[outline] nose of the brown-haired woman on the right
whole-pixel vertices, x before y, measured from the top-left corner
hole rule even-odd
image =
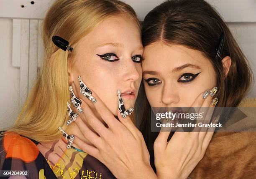
[[[167,107],[177,106],[179,103],[179,93],[175,86],[171,83],[164,84],[164,88],[162,89],[161,102],[164,103]]]

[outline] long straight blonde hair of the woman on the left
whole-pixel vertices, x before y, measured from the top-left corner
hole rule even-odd
[[[106,18],[122,14],[134,20],[140,30],[133,8],[119,0],[56,0],[42,23],[44,57],[37,81],[18,119],[4,130],[38,142],[59,140],[62,135],[58,127],[68,128],[68,57],[72,58],[74,53],[59,49],[51,38],[58,35],[72,46]]]

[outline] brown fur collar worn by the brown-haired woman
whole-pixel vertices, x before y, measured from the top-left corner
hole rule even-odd
[[[256,98],[246,98],[238,105],[238,107],[249,106],[256,107]],[[244,113],[250,115],[250,111]],[[250,129],[254,129],[256,117],[249,116],[249,118],[251,119],[248,122],[253,122],[251,123],[253,127]],[[241,125],[234,127],[239,126],[244,127]],[[256,178],[256,132],[254,131],[256,130],[215,133],[205,156],[188,179]]]

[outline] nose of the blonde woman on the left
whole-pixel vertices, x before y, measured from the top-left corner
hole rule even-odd
[[[140,63],[133,62],[131,58],[125,61],[122,71],[125,81],[137,81],[142,76]]]

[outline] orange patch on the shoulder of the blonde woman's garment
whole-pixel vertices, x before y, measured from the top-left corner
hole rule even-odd
[[[5,153],[5,159],[20,159],[24,162],[36,160],[39,154],[39,150],[33,141],[10,131],[3,134],[0,148]]]

